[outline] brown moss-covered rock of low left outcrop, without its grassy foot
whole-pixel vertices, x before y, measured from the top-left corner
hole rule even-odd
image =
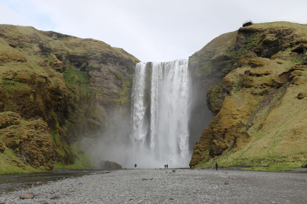
[[[10,119],[10,123],[6,123],[6,127],[2,126],[0,129],[0,138],[4,143],[4,145],[0,144],[0,149],[3,150],[1,152],[4,152],[6,146],[14,150],[16,156],[24,164],[51,171],[55,157],[47,123],[42,120],[26,122],[14,112],[0,113],[0,118]],[[18,122],[16,123],[16,121]],[[18,164],[18,167],[24,167],[19,163],[15,161],[14,164]]]

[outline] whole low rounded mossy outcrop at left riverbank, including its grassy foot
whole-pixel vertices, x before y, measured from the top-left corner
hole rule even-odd
[[[49,128],[44,121],[24,121],[17,113],[1,112],[0,140],[1,173],[53,169],[55,156]]]

